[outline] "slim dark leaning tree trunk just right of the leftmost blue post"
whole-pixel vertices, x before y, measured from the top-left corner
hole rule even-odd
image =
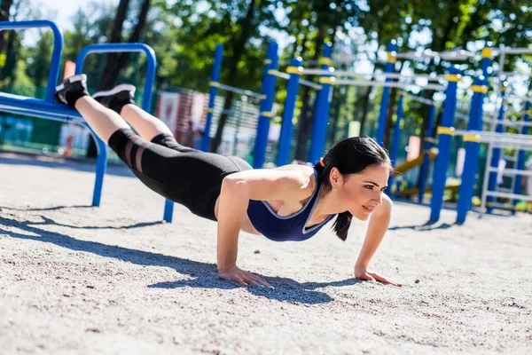
[[[251,0],[249,8],[247,9],[246,17],[241,22],[241,31],[239,38],[234,42],[233,45],[233,55],[230,61],[229,75],[227,77],[227,82],[229,85],[235,85],[235,79],[237,78],[237,70],[239,66],[239,61],[244,54],[244,49],[246,47],[246,42],[249,39],[249,34],[251,33],[251,26],[254,19],[254,9],[255,9],[256,0]],[[223,105],[224,109],[230,109],[232,105],[233,93],[227,91],[225,94],[225,104]],[[226,108],[227,107],[227,108]],[[220,116],[220,121],[218,122],[218,128],[216,129],[215,138],[211,141],[209,150],[211,152],[216,152],[220,143],[222,143],[222,134],[223,127],[229,118],[228,114],[222,114]],[[208,132],[206,132],[208,134]]]

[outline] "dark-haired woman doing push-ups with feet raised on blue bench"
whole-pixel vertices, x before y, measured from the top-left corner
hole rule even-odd
[[[179,145],[163,122],[135,106],[134,93],[133,86],[122,84],[91,98],[85,75],[67,78],[56,88],[56,98],[77,109],[145,185],[218,222],[220,278],[270,287],[268,281],[237,266],[240,231],[273,241],[304,241],[336,217],[332,227],[345,241],[351,217],[372,216],[355,276],[401,286],[368,270],[392,209],[384,194],[391,163],[374,140],[344,139],[314,168],[286,165],[254,170],[237,157]]]

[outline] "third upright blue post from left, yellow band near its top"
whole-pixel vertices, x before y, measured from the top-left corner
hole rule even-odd
[[[279,138],[277,165],[286,165],[290,160],[290,148],[292,146],[293,134],[293,112],[295,110],[295,100],[299,90],[299,80],[301,75],[301,57],[290,60],[290,67],[286,68],[286,73],[290,75],[286,87],[285,111],[283,113],[283,123],[281,126],[281,136]]]

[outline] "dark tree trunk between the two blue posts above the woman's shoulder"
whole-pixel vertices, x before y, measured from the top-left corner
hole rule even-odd
[[[320,55],[322,54],[322,47],[324,46],[325,41],[325,30],[323,26],[319,26],[317,28],[317,36],[316,36],[316,49],[314,51],[314,56],[312,57],[313,62],[317,62]],[[301,95],[301,114],[298,122],[298,130],[297,130],[297,143],[295,146],[295,156],[294,158],[297,160],[301,160],[303,162],[307,162],[308,160],[308,147],[309,147],[309,141],[311,139],[312,134],[312,118],[314,116],[311,107],[310,107],[310,88],[308,86],[304,86],[302,88],[303,92]],[[314,102],[314,106],[316,106],[316,100]]]

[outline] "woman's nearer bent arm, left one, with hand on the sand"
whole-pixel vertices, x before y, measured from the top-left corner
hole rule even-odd
[[[221,278],[243,285],[270,286],[237,266],[239,232],[249,200],[303,200],[312,193],[311,185],[309,177],[293,170],[246,170],[223,179],[217,231],[217,267]]]

